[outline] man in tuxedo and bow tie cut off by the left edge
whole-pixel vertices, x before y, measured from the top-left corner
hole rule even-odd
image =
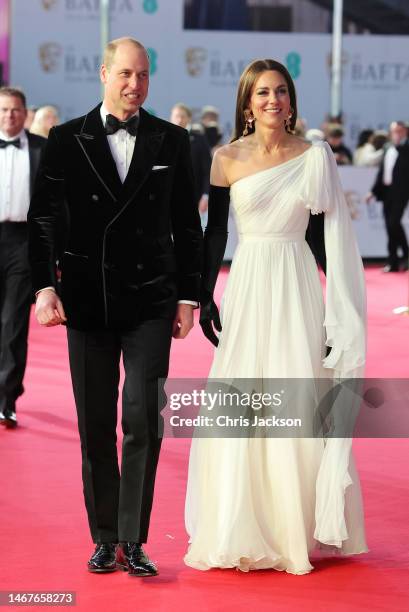
[[[24,130],[22,91],[0,87],[0,423],[17,426],[32,302],[27,211],[45,139]]]

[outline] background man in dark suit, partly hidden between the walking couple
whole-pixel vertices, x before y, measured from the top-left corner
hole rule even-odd
[[[192,111],[186,104],[181,102],[175,104],[170,113],[170,121],[189,132],[195,197],[199,212],[205,212],[209,199],[210,166],[212,164],[207,138],[203,132],[199,131],[202,130],[201,126],[197,126],[197,129],[192,126]]]

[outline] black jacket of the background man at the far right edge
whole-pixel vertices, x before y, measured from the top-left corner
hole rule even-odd
[[[406,140],[397,149],[398,157],[392,171],[392,184],[386,188],[383,183],[384,156],[371,189],[380,202],[384,202],[386,197],[397,204],[409,200],[409,141]]]

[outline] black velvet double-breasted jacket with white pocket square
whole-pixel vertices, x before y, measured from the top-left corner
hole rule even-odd
[[[100,105],[53,128],[28,221],[35,291],[56,286],[56,253],[63,253],[69,327],[131,330],[173,318],[180,299],[198,300],[202,230],[189,136],[143,109],[124,183]]]

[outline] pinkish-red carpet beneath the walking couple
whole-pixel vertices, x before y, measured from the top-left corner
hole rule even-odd
[[[407,378],[409,317],[392,314],[392,308],[407,303],[407,275],[368,269],[367,282],[367,375]],[[40,329],[32,321],[29,346],[20,427],[0,430],[0,591],[75,591],[76,609],[92,612],[409,609],[408,440],[355,440],[370,552],[318,557],[315,570],[305,576],[187,568],[182,557],[189,441],[166,440],[147,546],[160,576],[89,574],[85,564],[92,543],[83,508],[65,330]],[[170,375],[206,376],[211,353],[196,326],[187,340],[174,342]]]

